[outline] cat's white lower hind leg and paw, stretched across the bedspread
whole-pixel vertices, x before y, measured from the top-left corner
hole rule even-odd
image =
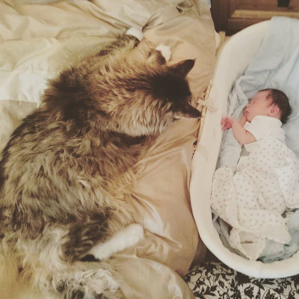
[[[144,231],[140,224],[133,223],[117,232],[106,242],[95,245],[89,251],[98,260],[105,260],[113,254],[136,245],[144,238]]]

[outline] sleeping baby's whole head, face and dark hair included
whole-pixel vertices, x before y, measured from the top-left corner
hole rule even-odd
[[[286,123],[291,112],[289,99],[282,91],[263,89],[253,96],[244,110],[244,116],[249,122],[257,115],[265,115],[278,118],[282,123]]]

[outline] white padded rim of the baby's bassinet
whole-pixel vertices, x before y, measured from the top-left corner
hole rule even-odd
[[[270,21],[260,22],[238,32],[219,49],[213,83],[207,101],[216,111],[207,109],[202,132],[193,157],[190,198],[200,237],[208,249],[229,267],[258,278],[282,278],[299,273],[299,252],[271,263],[247,260],[228,250],[212,222],[210,196],[213,174],[222,140],[220,120],[226,114],[227,99],[235,80],[244,73],[257,54]]]

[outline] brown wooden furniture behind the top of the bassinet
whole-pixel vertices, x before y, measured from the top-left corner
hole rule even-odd
[[[225,31],[226,35],[272,16],[299,19],[298,0],[211,0],[211,5],[215,29]]]

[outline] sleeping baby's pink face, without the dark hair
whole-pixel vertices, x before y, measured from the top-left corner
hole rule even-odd
[[[272,105],[271,99],[267,99],[268,94],[269,91],[265,90],[259,91],[254,95],[244,110],[244,116],[247,121],[251,122],[257,115],[269,115]]]

